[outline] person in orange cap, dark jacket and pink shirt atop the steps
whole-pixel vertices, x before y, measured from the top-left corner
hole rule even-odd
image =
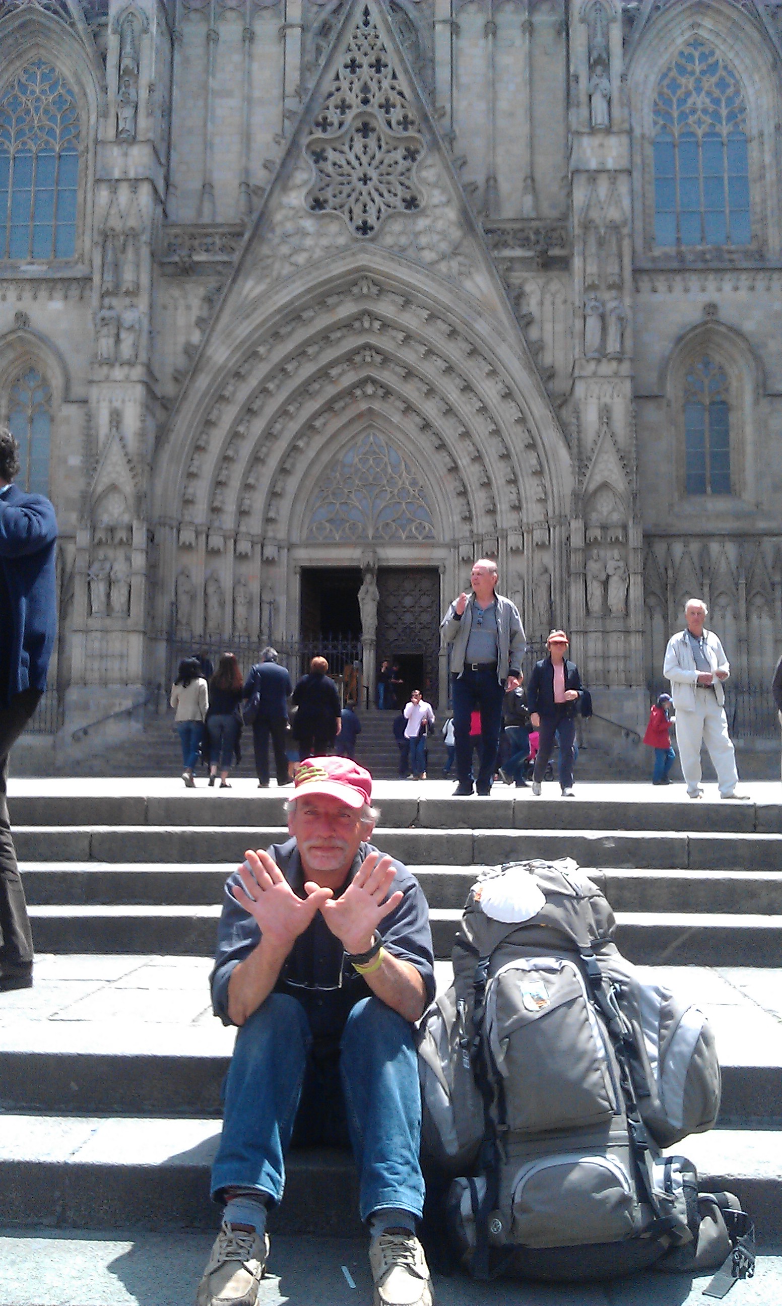
[[[564,631],[552,631],[546,640],[548,653],[539,662],[535,662],[527,686],[527,708],[531,722],[539,731],[538,756],[533,772],[533,793],[538,795],[556,737],[559,741],[559,782],[563,798],[573,797],[574,718],[584,686],[578,667],[565,657],[569,644]]]

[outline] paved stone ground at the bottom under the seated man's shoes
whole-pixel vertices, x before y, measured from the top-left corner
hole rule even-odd
[[[0,1230],[0,1306],[193,1306],[211,1238],[204,1234],[90,1230],[61,1235]],[[350,1282],[345,1269],[350,1275]],[[475,1284],[435,1276],[436,1306],[705,1306],[710,1276],[634,1275],[599,1285]],[[273,1242],[258,1306],[368,1306],[368,1262],[356,1242]],[[755,1279],[736,1284],[730,1306],[779,1306],[782,1255],[759,1259]]]

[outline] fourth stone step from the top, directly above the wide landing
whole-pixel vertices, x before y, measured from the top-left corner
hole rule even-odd
[[[31,906],[39,952],[154,952],[211,956],[219,905]],[[435,955],[450,956],[461,910],[430,912]],[[667,965],[777,966],[782,916],[619,912],[616,942],[631,961]]]

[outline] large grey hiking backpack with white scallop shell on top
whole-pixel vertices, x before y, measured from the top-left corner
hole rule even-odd
[[[452,1177],[450,1232],[478,1276],[731,1255],[719,1203],[698,1198],[689,1161],[661,1155],[717,1119],[712,1032],[642,983],[612,935],[608,902],[571,859],[497,867],[470,891],[419,1067],[423,1152]],[[738,1243],[745,1217],[726,1204]]]

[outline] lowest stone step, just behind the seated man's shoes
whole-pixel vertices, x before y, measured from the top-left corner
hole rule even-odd
[[[209,1170],[219,1123],[191,1118],[16,1115],[0,1135],[0,1220],[106,1229],[214,1228]],[[775,1131],[714,1130],[676,1148],[701,1187],[736,1192],[764,1243],[782,1237],[782,1139]],[[285,1202],[270,1221],[289,1234],[366,1237],[346,1152],[292,1152]]]

